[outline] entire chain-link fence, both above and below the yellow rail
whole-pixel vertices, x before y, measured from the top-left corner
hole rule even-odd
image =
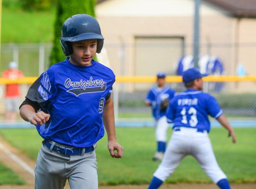
[[[232,57],[239,46],[240,61],[245,64],[246,73],[256,75],[254,53],[256,43],[238,44],[201,44],[201,52],[220,58],[224,74],[236,74],[237,55]],[[112,68],[116,76],[155,76],[158,71],[165,71],[169,76],[177,74],[179,60],[184,54],[191,54],[193,45],[185,44],[183,38],[136,38],[135,43],[105,43],[102,53],[97,55],[99,62]],[[49,67],[51,44],[3,44],[1,46],[0,74],[8,69],[8,63],[15,61],[25,77],[38,77]],[[246,51],[245,51],[246,50]],[[164,53],[163,53],[164,52]],[[237,52],[237,51],[236,51]],[[247,56],[248,55],[248,56]],[[144,105],[148,90],[154,82],[118,82],[114,84],[116,121],[152,122],[151,108]],[[184,90],[182,83],[169,81],[167,86],[177,92]],[[21,84],[20,102],[24,100],[30,84]],[[5,115],[5,84],[0,83],[0,119]],[[0,91],[0,93],[1,93]],[[204,91],[215,96],[230,119],[255,120],[256,82],[229,81],[205,82]],[[20,117],[18,115],[18,120]]]

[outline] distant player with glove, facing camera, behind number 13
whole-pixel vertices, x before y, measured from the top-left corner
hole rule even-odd
[[[170,100],[173,98],[175,91],[165,86],[165,73],[157,74],[157,86],[152,87],[145,100],[145,104],[152,107],[152,115],[155,119],[155,139],[157,141],[157,151],[155,152],[154,161],[162,161],[165,152],[168,123],[165,112]]]

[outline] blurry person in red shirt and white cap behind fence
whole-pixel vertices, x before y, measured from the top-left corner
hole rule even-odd
[[[16,80],[24,77],[22,71],[18,70],[16,62],[9,63],[9,69],[2,74],[3,78]],[[7,84],[5,89],[5,120],[15,120],[19,110],[20,88],[18,84]]]

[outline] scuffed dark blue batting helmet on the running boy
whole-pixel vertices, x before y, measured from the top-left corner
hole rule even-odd
[[[63,53],[69,56],[73,53],[70,42],[86,39],[97,39],[97,53],[101,52],[104,37],[97,20],[88,14],[76,14],[68,18],[62,25],[60,43]]]

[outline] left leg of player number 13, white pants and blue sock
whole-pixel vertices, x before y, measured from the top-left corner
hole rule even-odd
[[[181,137],[175,136],[175,134],[172,136],[164,153],[162,163],[153,174],[154,177],[151,180],[149,189],[158,188],[167,177],[173,174],[174,170],[185,156],[183,144]]]

